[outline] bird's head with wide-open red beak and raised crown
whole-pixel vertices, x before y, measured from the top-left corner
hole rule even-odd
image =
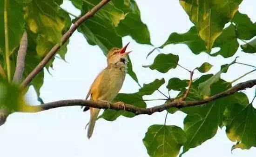
[[[126,65],[128,63],[128,54],[131,52],[125,52],[128,45],[129,43],[123,48],[114,47],[111,50],[109,50],[108,64],[116,64],[118,62],[121,62]]]

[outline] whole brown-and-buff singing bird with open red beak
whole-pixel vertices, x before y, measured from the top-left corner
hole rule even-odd
[[[129,43],[123,48],[112,48],[108,52],[108,66],[94,80],[86,96],[92,101],[111,102],[120,91],[127,72],[128,54],[125,52]],[[86,109],[85,109],[86,110]],[[90,107],[90,121],[87,137],[90,138],[100,109]]]

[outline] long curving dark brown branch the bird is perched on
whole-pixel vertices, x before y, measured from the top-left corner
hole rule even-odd
[[[158,105],[158,106],[150,107],[150,108],[140,108],[140,107],[136,107],[134,105],[129,105],[129,104],[122,105],[121,103],[112,103],[111,104],[111,103],[108,103],[105,101],[88,101],[88,100],[83,100],[83,99],[74,99],[74,100],[55,101],[55,102],[50,102],[50,103],[46,103],[46,104],[38,105],[38,106],[30,106],[29,110],[22,111],[22,112],[38,112],[38,111],[45,111],[45,110],[49,110],[49,109],[54,109],[54,108],[58,108],[58,107],[67,107],[67,106],[88,106],[88,107],[93,107],[93,108],[112,109],[112,110],[117,110],[117,111],[125,110],[125,111],[129,111],[129,112],[133,112],[136,115],[139,115],[139,114],[151,115],[155,112],[161,112],[161,111],[164,111],[171,107],[182,108],[182,107],[206,104],[206,103],[209,103],[216,99],[227,97],[229,95],[234,94],[235,92],[244,90],[246,88],[251,88],[254,85],[256,85],[256,79],[249,80],[249,81],[246,81],[243,83],[239,83],[224,92],[218,93],[218,94],[211,96],[209,98],[206,98],[206,99],[197,100],[197,101],[181,101],[180,99],[175,99],[174,101],[167,102],[164,105]]]

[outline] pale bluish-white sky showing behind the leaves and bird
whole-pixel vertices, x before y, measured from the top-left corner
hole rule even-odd
[[[147,24],[151,42],[154,46],[161,46],[168,39],[170,33],[185,33],[192,23],[188,15],[179,5],[178,0],[136,0],[141,19]],[[71,3],[64,0],[63,8],[79,15]],[[249,15],[256,22],[256,1],[243,0],[239,11]],[[155,79],[165,78],[166,84],[160,90],[167,94],[168,79],[178,77],[189,79],[189,73],[180,67],[165,74],[143,68],[153,62],[159,52],[154,52],[148,59],[146,55],[152,46],[137,44],[130,37],[123,38],[123,45],[128,46],[133,68],[141,85]],[[215,49],[217,51],[218,48]],[[216,73],[220,65],[230,63],[236,56],[238,61],[255,65],[256,55],[238,52],[231,58],[222,56],[209,57],[206,53],[194,55],[186,45],[170,45],[161,50],[162,53],[178,54],[180,64],[188,69],[194,69],[204,62],[214,65],[208,73]],[[40,97],[44,102],[63,99],[84,99],[88,89],[102,69],[106,67],[106,58],[98,46],[88,45],[86,39],[77,31],[70,38],[66,62],[55,59],[50,74],[45,70],[44,84],[40,89]],[[249,72],[251,68],[243,65],[232,65],[222,79],[231,81]],[[195,78],[200,73],[195,72]],[[240,79],[235,84],[249,79],[255,79],[256,73]],[[235,85],[234,84],[234,85]],[[133,93],[139,89],[138,85],[127,75],[120,92]],[[255,87],[244,90],[249,100],[253,98]],[[175,96],[177,92],[171,92]],[[32,87],[29,88],[26,98],[30,104],[39,105]],[[163,98],[159,92],[144,99]],[[147,102],[148,107],[161,105],[162,101]],[[256,107],[256,102],[253,104]],[[164,124],[166,111],[154,113],[151,116],[139,115],[135,118],[120,117],[113,122],[99,119],[95,125],[93,137],[88,140],[84,129],[89,121],[89,112],[82,112],[79,106],[57,108],[40,113],[13,113],[7,118],[6,124],[0,127],[0,156],[1,157],[148,157],[147,150],[142,143],[148,127],[153,124]],[[178,111],[168,114],[167,124],[183,127],[183,118],[186,114]],[[183,157],[253,157],[256,148],[250,150],[233,150],[226,134],[225,127],[218,129],[216,136],[202,145],[190,149]]]

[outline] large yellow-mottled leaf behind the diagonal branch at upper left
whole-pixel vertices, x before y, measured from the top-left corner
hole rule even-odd
[[[59,6],[62,0],[29,0],[24,3],[24,18],[28,34],[28,48],[26,54],[24,78],[38,65],[55,44],[60,44],[63,34],[71,26],[69,15]],[[51,7],[49,7],[51,6]],[[67,52],[67,43],[58,51],[63,59]],[[17,54],[13,54],[16,58]],[[14,59],[16,61],[16,59]],[[52,66],[51,59],[46,67]],[[40,72],[30,83],[34,86],[39,97],[44,74]]]

